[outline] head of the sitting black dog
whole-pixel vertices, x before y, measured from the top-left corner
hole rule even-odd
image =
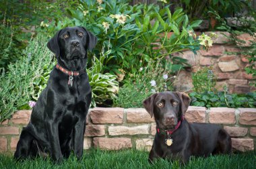
[[[61,66],[76,69],[86,62],[87,50],[92,50],[96,43],[97,38],[86,28],[65,27],[49,40],[47,47],[55,53]]]

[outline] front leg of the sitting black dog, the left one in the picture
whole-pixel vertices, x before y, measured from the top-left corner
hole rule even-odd
[[[46,129],[51,144],[51,157],[55,162],[59,163],[63,160],[61,154],[61,146],[59,145],[59,129],[58,124],[53,119],[46,119]]]

